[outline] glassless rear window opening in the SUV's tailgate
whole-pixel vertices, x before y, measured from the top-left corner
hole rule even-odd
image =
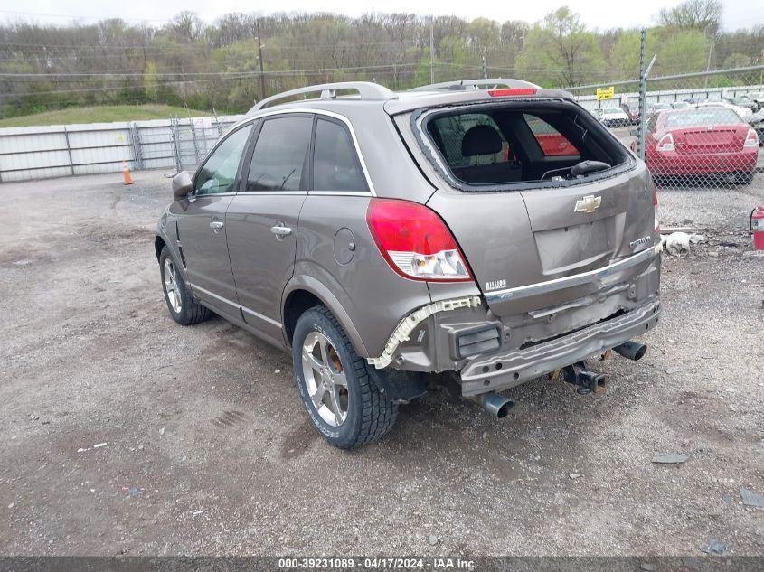
[[[445,164],[438,166],[467,185],[568,180],[581,161],[628,161],[589,113],[561,102],[435,111],[422,127]]]

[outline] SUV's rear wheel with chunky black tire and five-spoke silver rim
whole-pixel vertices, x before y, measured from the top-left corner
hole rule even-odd
[[[382,395],[369,365],[325,306],[310,308],[297,320],[292,362],[300,399],[330,444],[352,449],[390,431],[398,405]]]

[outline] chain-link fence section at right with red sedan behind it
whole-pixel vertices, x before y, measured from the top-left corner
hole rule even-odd
[[[764,66],[572,88],[659,187],[749,185],[764,171]],[[613,87],[613,98],[597,88]],[[759,175],[764,178],[764,174]]]

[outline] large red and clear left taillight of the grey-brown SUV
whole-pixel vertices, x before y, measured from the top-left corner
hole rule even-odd
[[[402,277],[430,282],[472,280],[457,241],[426,206],[372,199],[366,220],[382,257]]]

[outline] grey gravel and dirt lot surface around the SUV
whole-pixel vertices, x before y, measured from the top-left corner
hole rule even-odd
[[[308,425],[287,355],[174,324],[152,245],[169,182],[136,179],[0,185],[0,554],[764,555],[740,497],[764,494],[764,258],[744,231],[764,175],[660,193],[664,225],[709,242],[665,257],[650,350],[599,361],[604,396],[537,380],[495,421],[433,378],[354,452]]]

